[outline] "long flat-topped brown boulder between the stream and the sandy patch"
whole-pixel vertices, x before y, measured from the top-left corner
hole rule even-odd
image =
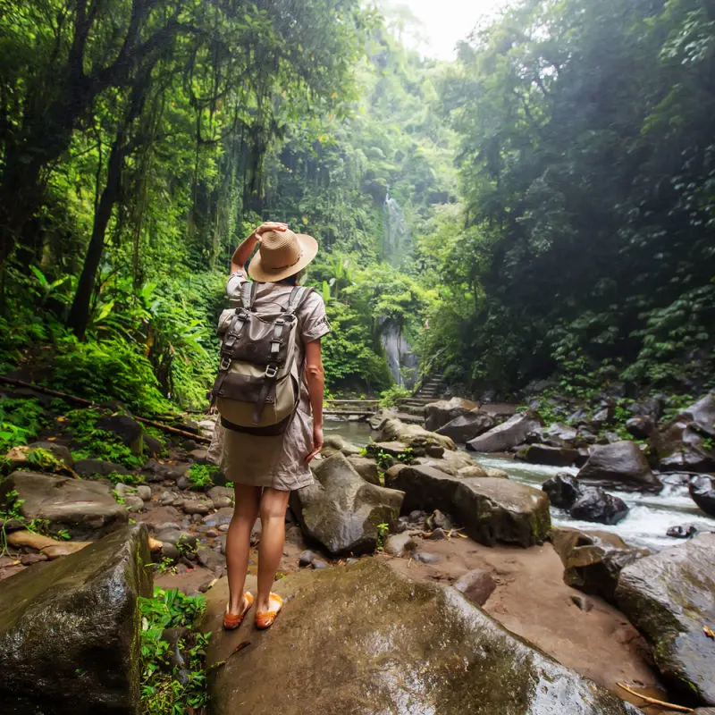
[[[385,484],[405,492],[403,513],[441,509],[476,542],[542,543],[551,528],[549,498],[509,479],[455,477],[432,467],[405,467],[385,474]]]

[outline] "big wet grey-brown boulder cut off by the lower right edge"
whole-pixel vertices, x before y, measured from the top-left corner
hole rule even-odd
[[[715,534],[640,559],[621,571],[618,608],[652,644],[673,686],[715,705]]]

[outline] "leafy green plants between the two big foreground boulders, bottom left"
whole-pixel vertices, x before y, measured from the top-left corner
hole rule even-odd
[[[210,634],[198,631],[198,619],[206,610],[203,596],[186,596],[178,589],[156,588],[153,598],[140,598],[141,608],[141,704],[147,715],[200,710],[206,706],[206,646]],[[166,628],[188,627],[179,647],[186,659],[186,678],[180,665],[172,667],[172,652],[163,639]]]

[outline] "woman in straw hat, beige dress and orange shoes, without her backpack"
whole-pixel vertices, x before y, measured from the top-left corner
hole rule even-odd
[[[293,233],[285,223],[263,223],[233,254],[229,296],[240,296],[241,287],[248,280],[245,265],[257,244],[259,248],[250,260],[248,275],[259,282],[254,306],[260,313],[270,304],[287,306],[299,274],[315,258],[317,241]],[[230,597],[223,627],[227,629],[239,627],[253,605],[253,595],[244,593],[244,584],[251,529],[258,515],[262,531],[258,545],[257,627],[272,626],[281,610],[281,597],[271,592],[271,586],[281,562],[290,492],[312,483],[308,463],[323,447],[324,372],[320,339],[330,332],[323,299],[312,291],[296,315],[300,335],[296,365],[304,369],[299,405],[286,431],[271,437],[228,429],[223,434],[223,471],[236,492],[226,539]]]

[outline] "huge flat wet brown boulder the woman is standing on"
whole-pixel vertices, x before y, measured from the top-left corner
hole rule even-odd
[[[375,559],[290,574],[274,589],[286,606],[269,633],[233,657],[240,637],[209,645],[212,715],[638,712],[455,589],[414,583]],[[227,595],[225,579],[207,594],[205,630],[221,632]]]

